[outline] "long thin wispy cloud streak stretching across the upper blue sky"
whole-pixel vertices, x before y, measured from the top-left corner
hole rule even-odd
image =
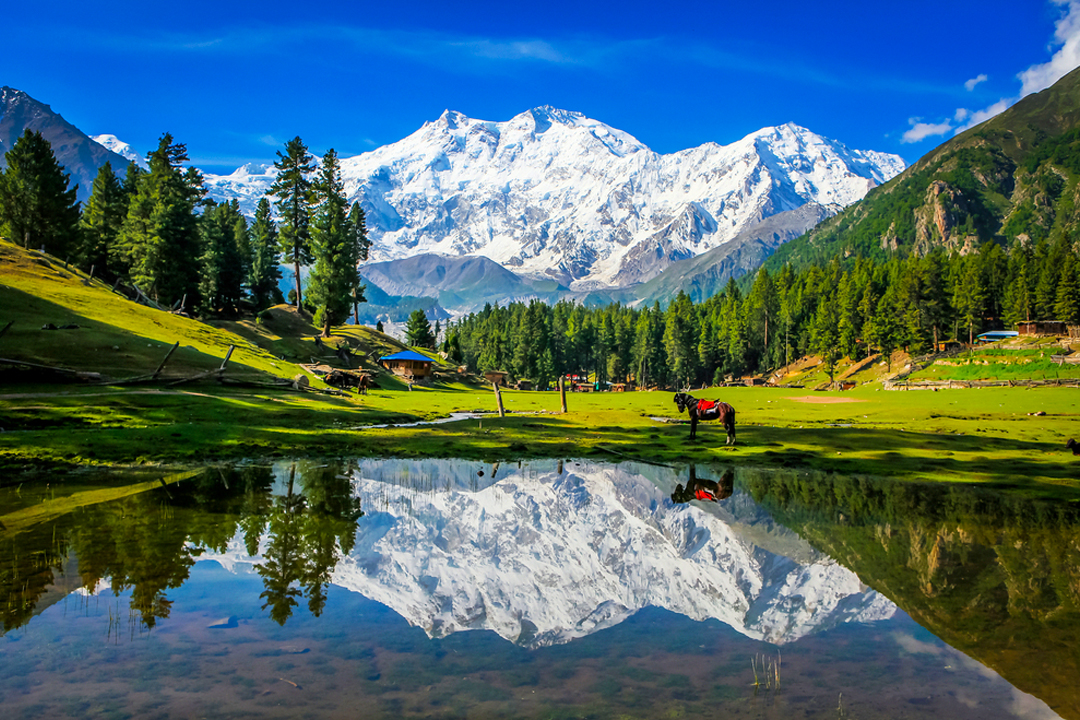
[[[268,58],[288,55],[336,67],[361,66],[354,58],[379,57],[420,63],[464,73],[486,73],[522,67],[561,67],[599,72],[621,72],[627,64],[663,63],[696,66],[740,74],[757,74],[810,85],[873,86],[910,94],[943,94],[949,89],[915,83],[903,78],[856,77],[850,68],[816,65],[811,57],[784,56],[771,46],[743,46],[687,40],[680,37],[615,38],[599,33],[559,37],[485,37],[424,29],[382,29],[348,25],[297,24],[217,29],[206,32],[87,36],[75,28],[56,28],[52,37],[72,46],[145,55],[175,54],[193,57],[245,56]],[[320,52],[309,52],[318,46]],[[330,57],[327,59],[327,57]],[[342,59],[347,58],[347,59]]]

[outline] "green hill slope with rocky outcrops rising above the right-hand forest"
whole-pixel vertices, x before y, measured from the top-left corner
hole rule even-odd
[[[1080,228],[1080,69],[941,145],[765,267],[836,256],[885,259]]]

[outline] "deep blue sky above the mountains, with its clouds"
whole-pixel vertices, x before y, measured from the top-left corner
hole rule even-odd
[[[1080,65],[1080,0],[10,3],[0,84],[212,172],[552,105],[659,152],[794,122],[914,162]]]

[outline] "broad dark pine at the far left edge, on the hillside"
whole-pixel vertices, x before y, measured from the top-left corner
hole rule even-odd
[[[23,247],[66,257],[79,237],[79,186],[56,161],[41,133],[27,128],[4,154],[0,172],[0,227]]]

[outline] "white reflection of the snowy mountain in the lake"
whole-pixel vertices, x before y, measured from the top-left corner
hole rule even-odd
[[[742,493],[675,505],[675,473],[656,467],[536,463],[478,478],[473,463],[438,462],[450,461],[360,464],[365,516],[333,575],[433,637],[483,628],[539,647],[652,606],[784,643],[895,612]],[[239,536],[203,558],[261,562]]]

